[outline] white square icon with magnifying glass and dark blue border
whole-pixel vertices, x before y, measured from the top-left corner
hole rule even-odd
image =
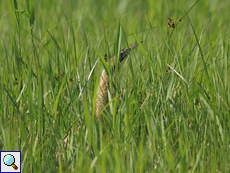
[[[21,172],[21,151],[0,151],[0,173]]]

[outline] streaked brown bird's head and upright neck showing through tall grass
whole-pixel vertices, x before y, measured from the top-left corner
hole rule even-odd
[[[122,49],[120,52],[120,60],[119,62],[121,63],[129,54],[129,52],[132,49],[135,49],[138,46],[138,44],[134,44],[133,46]],[[113,58],[111,59],[111,67],[112,69],[115,68],[116,64],[116,56],[114,55]],[[112,70],[113,72],[114,70]],[[103,109],[103,107],[108,103],[108,86],[109,86],[109,76],[106,73],[106,70],[103,69],[101,76],[100,76],[100,82],[99,82],[99,88],[97,92],[97,100],[96,100],[96,112],[95,116],[97,118],[100,117],[100,113]]]

